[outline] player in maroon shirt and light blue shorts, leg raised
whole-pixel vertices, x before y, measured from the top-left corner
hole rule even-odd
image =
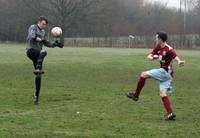
[[[167,43],[167,34],[165,32],[157,32],[156,45],[153,51],[147,56],[149,60],[159,59],[160,68],[152,69],[142,72],[137,86],[134,92],[127,93],[127,97],[137,101],[139,99],[140,92],[145,85],[145,81],[148,78],[153,78],[160,81],[160,97],[162,98],[163,105],[167,111],[164,116],[165,120],[175,120],[176,115],[172,111],[172,107],[167,96],[167,93],[172,93],[173,88],[171,82],[173,80],[173,67],[172,61],[177,61],[179,66],[185,65],[185,60],[181,60],[175,50]]]

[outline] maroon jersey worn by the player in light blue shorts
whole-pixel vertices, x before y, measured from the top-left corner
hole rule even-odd
[[[156,45],[151,54],[159,56],[160,67],[165,69],[167,72],[171,71],[173,77],[173,67],[171,63],[177,56],[175,50],[168,44],[163,48],[160,45]]]

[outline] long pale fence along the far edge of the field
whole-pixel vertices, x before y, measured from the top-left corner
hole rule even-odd
[[[68,47],[152,48],[155,36],[65,38]],[[200,35],[170,35],[168,43],[175,48],[200,48]]]

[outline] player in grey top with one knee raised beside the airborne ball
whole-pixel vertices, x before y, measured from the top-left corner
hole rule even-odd
[[[47,52],[42,49],[43,45],[49,48],[60,47],[62,48],[64,42],[56,40],[54,43],[50,43],[45,36],[45,28],[48,24],[48,20],[46,17],[41,16],[37,22],[37,24],[31,25],[28,29],[27,36],[27,56],[32,60],[34,66],[34,74],[35,76],[35,92],[33,95],[34,104],[38,104],[39,95],[40,95],[40,87],[41,87],[41,77],[44,73],[42,71],[42,63],[47,55]]]

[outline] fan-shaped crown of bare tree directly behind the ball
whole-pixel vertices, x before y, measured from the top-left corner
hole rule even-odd
[[[22,0],[36,14],[44,14],[52,25],[63,28],[64,33],[84,20],[97,8],[100,0]],[[38,8],[39,7],[39,8]]]

